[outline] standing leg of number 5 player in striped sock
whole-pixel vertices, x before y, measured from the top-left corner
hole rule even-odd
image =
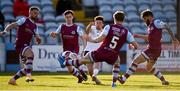
[[[113,75],[112,87],[116,87],[116,81],[118,79],[119,71],[120,71],[119,67],[120,67],[120,58],[118,57],[118,60],[113,65],[113,70],[112,70],[112,75]]]

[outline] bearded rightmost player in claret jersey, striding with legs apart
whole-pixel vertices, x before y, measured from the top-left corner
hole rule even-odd
[[[161,37],[163,29],[166,29],[168,34],[171,36],[175,48],[179,45],[179,42],[173,36],[169,26],[161,20],[154,19],[153,13],[149,9],[144,10],[141,13],[141,17],[148,27],[148,35],[134,34],[134,37],[142,38],[148,41],[149,44],[139,56],[135,57],[127,72],[122,77],[120,77],[120,82],[124,84],[126,79],[136,71],[138,64],[147,62],[146,70],[159,78],[163,85],[169,85],[169,82],[165,80],[161,72],[154,67],[154,64],[161,54]]]

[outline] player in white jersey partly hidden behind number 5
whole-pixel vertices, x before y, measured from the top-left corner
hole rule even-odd
[[[86,32],[89,37],[96,38],[101,34],[103,30],[103,26],[104,26],[104,18],[102,16],[96,16],[94,18],[94,22],[90,22],[89,25],[87,26]],[[88,52],[98,49],[101,43],[102,42],[100,43],[87,42],[86,48],[84,49],[84,56]],[[92,81],[95,81],[96,84],[101,84],[101,81],[96,77],[97,74],[99,73],[100,66],[101,66],[101,62],[96,62],[94,64],[87,65],[89,75],[92,77]]]

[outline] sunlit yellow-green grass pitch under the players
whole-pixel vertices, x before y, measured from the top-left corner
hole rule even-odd
[[[180,91],[180,73],[164,73],[165,78],[170,82],[169,86],[161,85],[160,81],[149,73],[137,73],[131,76],[124,85],[117,82],[117,87],[112,88],[112,75],[100,74],[98,77],[102,85],[95,85],[89,77],[88,81],[82,84],[68,73],[33,73],[35,79],[32,83],[25,82],[25,78],[17,80],[18,86],[8,85],[9,78],[14,73],[0,73],[0,91]]]

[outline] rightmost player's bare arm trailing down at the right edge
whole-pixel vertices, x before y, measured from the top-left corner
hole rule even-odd
[[[172,33],[169,25],[165,24],[165,29],[166,29],[166,31],[168,32],[168,34],[170,35],[170,37],[171,37],[171,39],[172,39],[172,43],[173,43],[173,45],[174,45],[174,48],[176,49],[176,48],[180,45],[179,41],[178,41],[178,40],[176,39],[176,37],[173,35],[173,33]]]

